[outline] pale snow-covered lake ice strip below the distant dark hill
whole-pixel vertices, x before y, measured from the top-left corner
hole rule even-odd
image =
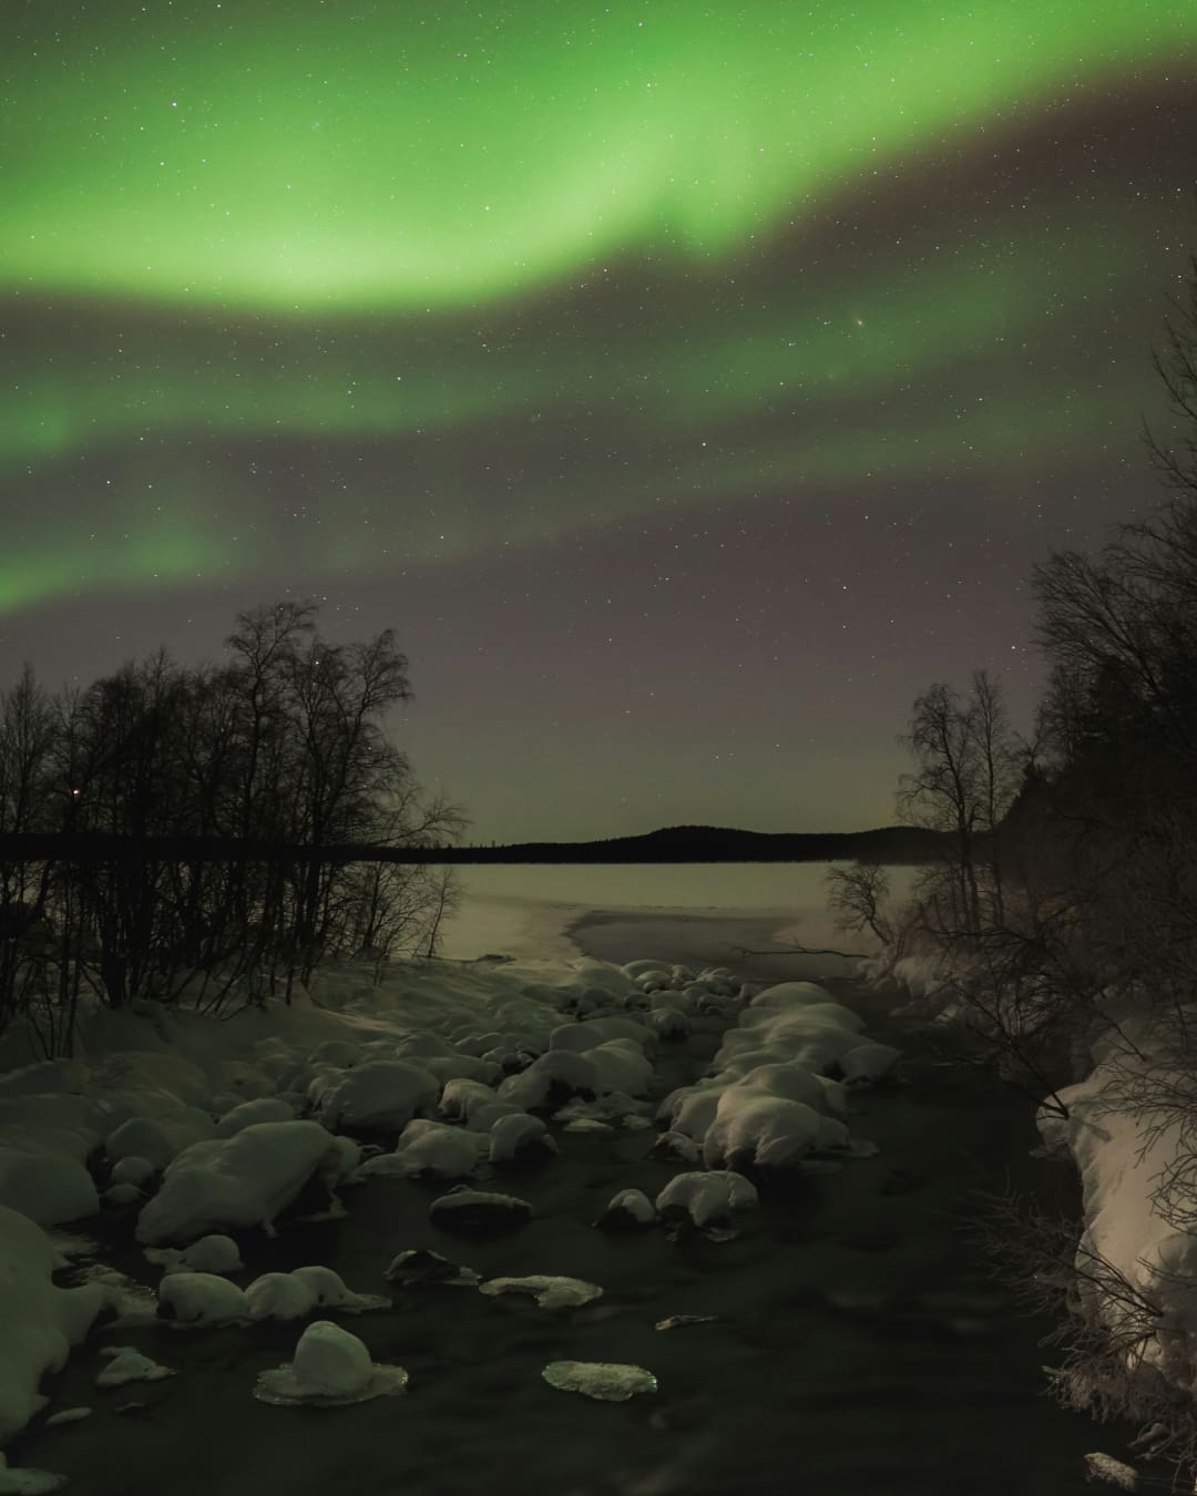
[[[444,931],[443,954],[495,951],[519,957],[576,954],[564,928],[588,910],[691,914],[777,914],[778,929],[803,944],[839,941],[826,913],[829,863],[630,863],[616,866],[461,868],[461,913]],[[905,896],[914,868],[890,868]]]

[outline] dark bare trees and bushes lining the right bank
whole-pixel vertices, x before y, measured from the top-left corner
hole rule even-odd
[[[914,702],[913,767],[898,805],[944,833],[943,856],[905,910],[884,869],[830,874],[842,923],[871,928],[896,975],[955,1010],[994,1046],[1002,1073],[1067,1118],[1059,1091],[1103,1046],[1100,1104],[1136,1119],[1172,1158],[1151,1203],[1197,1233],[1197,260],[1157,359],[1178,434],[1148,444],[1169,494],[1095,555],[1034,571],[1037,640],[1049,666],[1034,730],[1010,724],[1001,685]],[[991,1201],[1001,1270],[1059,1309],[1061,1399],[1139,1421],[1191,1486],[1197,1412],[1149,1364],[1163,1322],[1152,1294],[1097,1254],[1082,1222]],[[1184,1279],[1190,1293],[1194,1285]],[[1157,1346],[1158,1349],[1158,1346]],[[1178,1363],[1179,1364],[1179,1363]],[[1185,1373],[1187,1376],[1190,1373]]]

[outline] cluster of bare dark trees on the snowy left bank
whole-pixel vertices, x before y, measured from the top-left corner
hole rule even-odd
[[[289,995],[328,956],[434,950],[455,907],[449,869],[323,851],[465,824],[386,736],[411,697],[394,634],[332,643],[313,604],[283,601],[226,645],[220,664],[160,651],[58,693],[27,666],[0,694],[0,1028],[22,1014],[48,1053],[88,993]]]

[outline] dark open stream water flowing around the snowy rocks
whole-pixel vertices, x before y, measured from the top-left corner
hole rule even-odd
[[[871,1005],[883,1031],[886,1004],[842,995]],[[717,1043],[696,1035],[669,1050],[660,1089],[702,1070]],[[645,1158],[652,1132],[561,1134],[560,1159],[498,1183],[531,1200],[536,1218],[485,1245],[428,1224],[438,1188],[347,1192],[346,1221],[247,1240],[244,1281],[322,1261],[377,1293],[395,1252],[435,1246],[483,1275],[567,1273],[604,1297],[549,1315],[516,1296],[401,1294],[394,1312],[343,1322],[374,1360],[407,1367],[408,1396],[343,1409],[251,1399],[257,1372],[289,1358],[299,1327],[123,1333],[181,1375],[97,1390],[100,1361],[84,1348],[54,1384],[54,1406],[96,1412],[34,1424],[10,1460],[61,1471],[94,1496],[1091,1492],[1082,1454],[1121,1454],[1118,1439],[1043,1396],[1050,1352],[1037,1342],[1049,1325],[1020,1315],[959,1233],[971,1189],[1008,1173],[1017,1188],[1067,1194],[1068,1176],[1026,1156],[1025,1100],[974,1070],[916,1059],[910,1076],[859,1101],[853,1131],[875,1137],[880,1156],[766,1194],[741,1239],[721,1245],[593,1228],[616,1189],[652,1194],[676,1171]],[[153,1279],[135,1251],[118,1260]],[[718,1321],[654,1330],[670,1313]],[[660,1390],[622,1405],[554,1391],[540,1370],[561,1358],[637,1363]],[[114,1414],[132,1399],[148,1409]]]

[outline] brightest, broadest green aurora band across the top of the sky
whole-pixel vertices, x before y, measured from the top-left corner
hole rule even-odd
[[[1158,0],[43,0],[25,25],[0,287],[275,311],[726,259],[853,177],[1197,51],[1197,9]]]

